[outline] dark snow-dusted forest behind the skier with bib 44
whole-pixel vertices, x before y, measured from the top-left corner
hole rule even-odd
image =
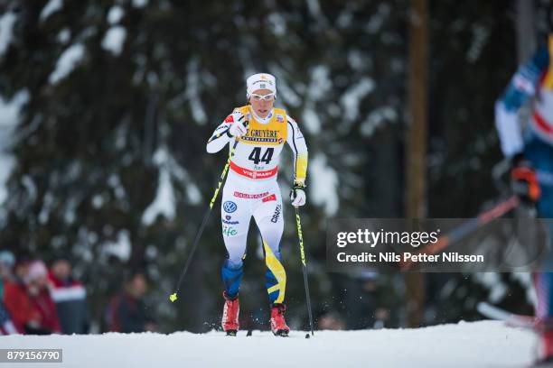
[[[495,201],[493,102],[518,65],[516,1],[429,1],[429,217]],[[545,29],[536,1],[535,32]],[[150,278],[161,330],[219,325],[224,246],[216,211],[173,291],[226,156],[210,133],[245,103],[245,78],[277,77],[277,106],[310,149],[302,209],[314,315],[348,328],[406,326],[404,277],[325,271],[332,217],[405,216],[408,0],[0,0],[0,246],[70,255],[97,331],[126,271]],[[528,42],[530,45],[531,41]],[[289,168],[291,154],[281,165]],[[279,176],[283,193],[291,170]],[[219,202],[218,202],[219,203]],[[291,327],[305,327],[292,207],[283,257]],[[254,227],[252,227],[254,228]],[[242,316],[267,328],[250,231]],[[478,318],[476,300],[529,313],[528,275],[426,275],[425,324]],[[491,287],[493,286],[493,287]]]

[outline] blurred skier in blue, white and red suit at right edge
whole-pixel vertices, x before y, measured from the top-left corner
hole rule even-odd
[[[511,160],[512,188],[536,205],[538,216],[553,218],[553,35],[521,65],[495,106],[501,150]],[[531,101],[528,129],[522,133],[519,110]],[[549,229],[553,235],[553,229]],[[553,317],[553,273],[534,275],[536,316]],[[553,331],[542,334],[540,359],[553,361]]]

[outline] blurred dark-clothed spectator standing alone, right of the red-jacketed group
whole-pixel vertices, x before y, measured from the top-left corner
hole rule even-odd
[[[109,303],[108,326],[112,332],[155,331],[154,320],[146,312],[143,297],[147,291],[145,275],[135,272],[125,281],[124,290]]]

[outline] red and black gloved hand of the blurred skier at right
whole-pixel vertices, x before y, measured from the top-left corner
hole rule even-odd
[[[518,154],[512,159],[511,188],[515,194],[519,195],[520,199],[527,203],[536,203],[541,194],[536,171],[522,154]]]

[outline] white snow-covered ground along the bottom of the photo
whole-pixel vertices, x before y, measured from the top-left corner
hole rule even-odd
[[[482,321],[417,329],[305,332],[277,338],[220,332],[196,335],[105,334],[2,336],[0,348],[61,348],[63,363],[17,367],[524,367],[536,338],[527,330]],[[0,366],[2,363],[0,363]]]

